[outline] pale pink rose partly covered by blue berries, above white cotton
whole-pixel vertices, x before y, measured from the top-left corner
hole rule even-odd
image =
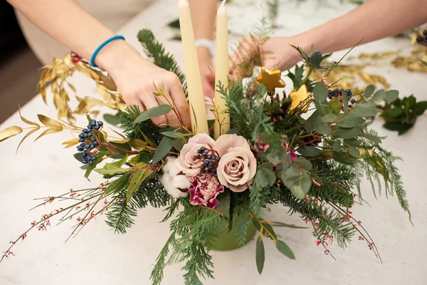
[[[211,149],[214,145],[214,139],[209,137],[206,133],[199,133],[194,135],[193,138],[189,139],[189,142],[182,147],[179,157],[175,160],[176,166],[180,171],[184,172],[186,176],[193,177],[199,172],[201,165],[203,165],[203,159],[197,158],[200,147],[206,147]]]

